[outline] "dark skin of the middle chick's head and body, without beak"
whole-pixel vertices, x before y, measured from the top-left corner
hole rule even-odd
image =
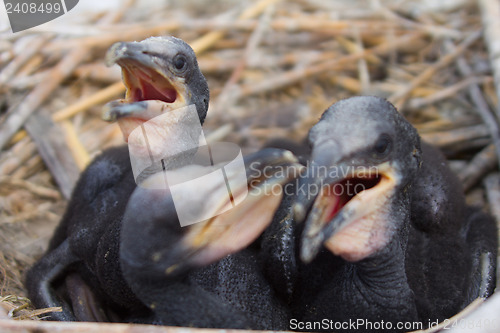
[[[286,307],[261,273],[258,242],[206,267],[190,264],[186,258],[183,267],[166,276],[167,268],[183,255],[178,243],[186,229],[179,225],[166,191],[138,188],[134,192],[123,220],[120,261],[128,285],[151,307],[148,322],[286,328]]]

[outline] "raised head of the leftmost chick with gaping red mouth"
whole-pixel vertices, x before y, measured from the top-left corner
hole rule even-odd
[[[122,68],[127,92],[124,99],[106,104],[102,118],[117,121],[125,141],[144,122],[192,104],[203,124],[208,84],[193,49],[183,40],[166,36],[115,43],[106,54],[106,63]]]

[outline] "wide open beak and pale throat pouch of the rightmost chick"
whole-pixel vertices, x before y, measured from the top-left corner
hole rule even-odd
[[[309,168],[299,181],[301,188],[309,189],[293,207],[297,222],[306,220],[300,252],[306,263],[323,245],[335,255],[358,261],[388,240],[387,203],[399,183],[398,173],[389,162],[370,167],[352,162],[340,160],[324,172]]]

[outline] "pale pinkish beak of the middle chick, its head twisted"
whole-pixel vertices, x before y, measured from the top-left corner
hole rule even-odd
[[[205,208],[212,217],[184,227],[182,239],[169,250],[176,253],[175,264],[166,268],[166,274],[209,265],[254,242],[271,223],[282,199],[282,187],[303,168],[292,153],[281,149],[252,154],[245,158],[245,166],[247,181],[240,187],[232,186],[230,197],[217,195],[221,189],[226,191],[228,183],[233,183],[229,174],[226,183],[206,183],[197,189],[210,202]],[[192,210],[201,209],[193,202],[190,205]]]

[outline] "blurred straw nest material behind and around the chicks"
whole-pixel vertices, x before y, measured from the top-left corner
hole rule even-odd
[[[1,2],[1,1],[0,1]],[[332,103],[387,98],[439,146],[467,200],[500,217],[497,0],[80,0],[13,34],[0,6],[0,315],[25,309],[22,274],[41,256],[81,170],[122,145],[102,105],[123,97],[106,50],[174,35],[198,55],[209,141],[244,152],[304,141]],[[500,13],[500,11],[498,12]],[[497,15],[497,16],[495,16]],[[498,80],[500,82],[500,79]]]

